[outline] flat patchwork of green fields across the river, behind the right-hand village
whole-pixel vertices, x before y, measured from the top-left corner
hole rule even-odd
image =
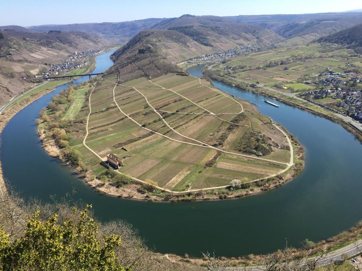
[[[285,93],[312,90],[318,85],[304,82],[318,80],[324,70],[362,73],[361,57],[349,55],[348,50],[329,44],[308,43],[314,35],[295,37],[282,48],[231,57],[228,62],[214,66],[241,81],[275,87]],[[281,45],[281,44],[279,44]],[[227,66],[234,67],[227,70]]]

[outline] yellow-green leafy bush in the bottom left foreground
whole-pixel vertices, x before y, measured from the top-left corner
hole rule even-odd
[[[79,212],[76,223],[68,219],[59,223],[57,215],[46,221],[35,211],[21,238],[10,242],[9,235],[0,230],[1,270],[121,270],[115,248],[121,236],[98,236],[97,223],[87,215],[92,206]],[[73,212],[78,212],[74,207]]]

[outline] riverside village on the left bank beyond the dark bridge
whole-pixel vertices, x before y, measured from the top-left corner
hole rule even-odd
[[[69,55],[68,59],[64,60],[61,64],[50,64],[50,69],[48,72],[42,74],[43,78],[65,73],[70,70],[79,69],[88,64],[88,59],[90,56],[101,52],[103,52],[103,50],[85,50],[80,53],[75,51],[75,53]]]

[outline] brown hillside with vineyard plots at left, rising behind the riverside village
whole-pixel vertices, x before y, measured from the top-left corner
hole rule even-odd
[[[76,50],[111,46],[108,40],[81,32],[44,34],[3,30],[0,33],[3,37],[0,39],[0,106],[41,83],[42,74],[47,73],[51,65],[61,64]],[[92,57],[85,57],[84,61],[89,62],[84,66],[87,70],[92,65]]]

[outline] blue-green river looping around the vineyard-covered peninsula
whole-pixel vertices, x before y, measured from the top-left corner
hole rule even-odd
[[[93,72],[108,69],[111,52],[97,56]],[[188,70],[200,75],[200,66]],[[79,83],[87,77],[75,81]],[[74,187],[76,199],[92,203],[102,221],[126,220],[150,247],[161,253],[200,256],[201,251],[240,256],[268,253],[306,238],[319,241],[349,229],[362,219],[362,145],[341,126],[298,108],[262,102],[256,95],[224,83],[219,89],[261,104],[261,113],[281,123],[306,147],[306,166],[298,178],[251,197],[222,201],[147,202],[102,195],[51,158],[41,146],[35,119],[57,87],[14,116],[1,134],[4,177],[24,197],[50,201]],[[274,102],[274,101],[273,101]]]

